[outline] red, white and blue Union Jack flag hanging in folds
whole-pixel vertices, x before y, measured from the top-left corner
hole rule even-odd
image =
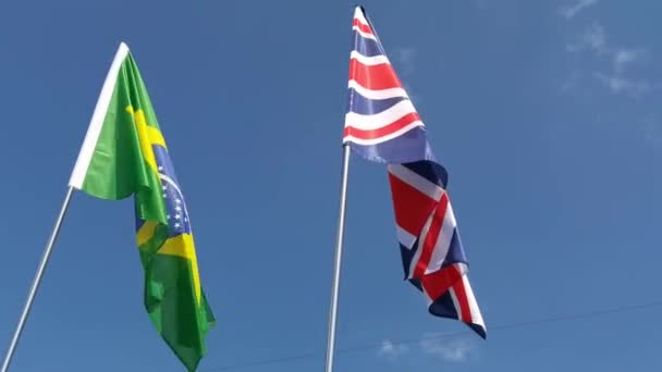
[[[448,173],[363,7],[354,12],[352,30],[343,141],[365,159],[389,164],[405,278],[425,294],[430,313],[457,319],[485,338]]]

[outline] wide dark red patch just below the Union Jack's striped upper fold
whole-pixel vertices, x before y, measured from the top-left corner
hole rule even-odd
[[[391,184],[395,223],[400,228],[418,236],[426,220],[434,210],[437,201],[391,173],[389,173],[389,183]]]

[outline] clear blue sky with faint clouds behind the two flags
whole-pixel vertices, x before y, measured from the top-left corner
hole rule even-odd
[[[449,170],[488,340],[402,281],[385,170],[353,158],[336,371],[660,370],[661,306],[507,326],[662,300],[662,3],[364,4]],[[353,7],[2,2],[2,345],[125,41],[218,318],[199,370],[321,370]],[[182,371],[143,309],[132,213],[74,195],[12,371]]]

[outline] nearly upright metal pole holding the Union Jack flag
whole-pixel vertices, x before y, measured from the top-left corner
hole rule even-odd
[[[333,266],[333,286],[331,289],[331,309],[329,312],[329,337],[327,339],[327,369],[333,372],[335,348],[335,322],[338,319],[338,297],[340,294],[340,272],[343,259],[343,235],[345,233],[345,206],[347,201],[347,174],[350,170],[350,145],[343,146],[342,184],[340,188],[340,215],[338,218],[338,236],[335,237],[335,261]]]

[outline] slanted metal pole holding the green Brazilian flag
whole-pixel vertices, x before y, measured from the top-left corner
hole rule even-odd
[[[56,221],[56,226],[53,227],[53,231],[50,234],[50,239],[48,240],[46,249],[44,250],[41,262],[39,262],[39,268],[37,269],[37,273],[35,274],[33,285],[29,288],[27,300],[25,301],[25,307],[23,308],[23,313],[21,314],[21,319],[19,320],[19,325],[16,325],[16,331],[14,332],[14,336],[12,337],[12,343],[10,344],[9,349],[7,350],[7,355],[4,356],[4,362],[2,363],[2,370],[0,370],[0,372],[7,372],[7,370],[9,369],[9,364],[12,361],[14,350],[16,349],[16,345],[19,344],[19,338],[21,338],[21,333],[23,332],[23,327],[25,326],[25,321],[27,320],[27,315],[29,315],[29,310],[32,309],[33,301],[35,300],[35,295],[37,294],[37,289],[39,289],[41,276],[46,271],[46,265],[48,265],[50,253],[53,249],[53,245],[56,244],[56,239],[58,238],[58,234],[60,233],[60,226],[62,225],[62,220],[64,220],[64,214],[66,213],[66,208],[69,207],[69,201],[71,200],[73,191],[74,188],[71,186],[66,190],[66,196],[64,197],[64,202],[62,203],[60,214],[58,215],[58,220]]]

